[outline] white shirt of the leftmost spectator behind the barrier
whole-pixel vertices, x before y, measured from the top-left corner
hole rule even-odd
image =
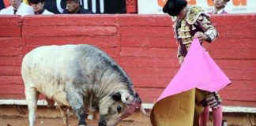
[[[6,9],[2,9],[0,11],[0,15],[14,15],[14,8],[13,6],[9,6]],[[32,6],[28,6],[27,4],[21,2],[21,5],[17,9],[16,15],[34,15],[34,10]]]

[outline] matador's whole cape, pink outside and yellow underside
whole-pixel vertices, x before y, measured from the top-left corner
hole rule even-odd
[[[152,126],[196,126],[203,111],[202,91],[219,91],[231,81],[194,39],[183,65],[152,107]],[[196,90],[200,89],[202,91]]]

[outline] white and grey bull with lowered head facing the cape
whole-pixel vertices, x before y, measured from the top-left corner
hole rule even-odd
[[[87,125],[88,110],[100,113],[99,126],[114,126],[135,109],[145,113],[126,72],[94,46],[38,47],[24,56],[21,75],[29,126],[35,125],[40,93],[57,106],[71,106],[78,125]],[[65,109],[61,112],[64,125],[69,125]]]

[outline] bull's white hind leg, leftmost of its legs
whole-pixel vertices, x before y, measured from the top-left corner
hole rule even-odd
[[[35,88],[25,87],[25,96],[28,103],[28,125],[34,126],[36,123],[36,108],[39,92]]]

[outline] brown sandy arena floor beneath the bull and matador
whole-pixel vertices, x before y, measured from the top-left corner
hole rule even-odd
[[[147,110],[149,113],[149,109]],[[77,126],[74,113],[70,115],[70,126]],[[36,126],[63,126],[61,113],[56,108],[38,106],[36,110]],[[228,126],[256,126],[255,113],[224,113]],[[98,120],[87,120],[88,126],[98,126]],[[28,126],[27,106],[0,106],[0,126]],[[151,126],[150,118],[136,111],[130,117],[119,122],[117,126]],[[209,116],[207,126],[213,126],[213,118]]]

